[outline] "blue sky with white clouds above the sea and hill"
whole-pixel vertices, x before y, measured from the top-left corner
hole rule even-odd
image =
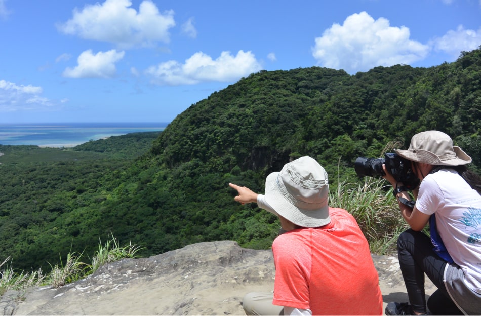
[[[0,0],[0,123],[170,122],[260,70],[430,67],[481,0]]]

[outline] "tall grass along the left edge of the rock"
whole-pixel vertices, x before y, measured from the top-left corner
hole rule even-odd
[[[0,296],[9,290],[22,290],[34,286],[50,285],[59,288],[65,284],[75,282],[95,272],[102,265],[123,258],[136,258],[136,252],[141,248],[132,245],[121,247],[118,241],[111,235],[111,239],[104,245],[99,244],[99,250],[95,253],[92,264],[82,261],[83,253],[73,252],[67,254],[65,262],[60,259],[59,264],[50,265],[51,271],[44,274],[41,269],[27,273],[12,268],[10,257],[0,264]]]

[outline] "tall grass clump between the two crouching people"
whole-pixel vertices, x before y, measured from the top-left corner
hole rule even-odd
[[[364,182],[342,182],[330,194],[330,205],[348,211],[357,220],[372,253],[396,251],[399,234],[408,226],[401,216],[390,185],[379,178],[365,177]]]

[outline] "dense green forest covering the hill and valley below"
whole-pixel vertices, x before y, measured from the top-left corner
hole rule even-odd
[[[356,157],[380,157],[393,141],[406,148],[431,129],[448,133],[479,172],[481,48],[430,68],[260,71],[192,104],[154,137],[0,146],[0,260],[48,269],[71,249],[93,252],[110,233],[145,247],[144,256],[227,239],[268,248],[276,218],[234,203],[229,182],[262,192],[268,173],[309,155],[335,190],[359,181]]]

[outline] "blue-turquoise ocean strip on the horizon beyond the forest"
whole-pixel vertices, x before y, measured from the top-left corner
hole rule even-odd
[[[0,124],[0,145],[74,147],[90,140],[136,132],[163,131],[169,123]]]

